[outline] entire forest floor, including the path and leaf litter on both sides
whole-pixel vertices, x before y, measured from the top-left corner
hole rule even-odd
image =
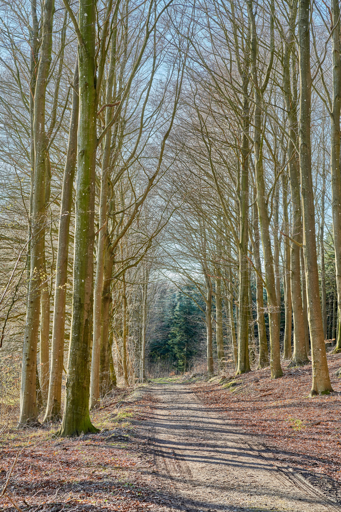
[[[336,370],[341,358],[329,362]],[[0,509],[341,510],[340,398],[308,399],[308,371],[286,370],[276,381],[258,370],[117,389],[92,416],[101,432],[77,438],[57,438],[57,424],[18,431],[5,423],[0,495],[18,459]],[[238,386],[223,388],[229,382]],[[321,423],[304,426],[308,420]]]

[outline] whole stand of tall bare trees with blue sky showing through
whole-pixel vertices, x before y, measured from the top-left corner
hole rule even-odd
[[[168,377],[337,397],[339,0],[0,6],[0,437]]]

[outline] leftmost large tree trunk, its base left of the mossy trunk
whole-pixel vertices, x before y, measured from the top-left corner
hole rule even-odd
[[[45,255],[44,231],[46,222],[45,181],[47,140],[45,133],[46,87],[52,52],[54,0],[46,0],[42,20],[39,67],[34,93],[34,179],[31,221],[30,282],[23,345],[22,381],[20,388],[19,425],[36,423],[36,366],[39,329],[41,271]]]

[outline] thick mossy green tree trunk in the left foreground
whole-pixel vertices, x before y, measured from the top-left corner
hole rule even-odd
[[[89,414],[90,351],[93,326],[95,164],[97,148],[96,9],[79,2],[79,125],[75,240],[66,399],[61,436],[96,432]]]

